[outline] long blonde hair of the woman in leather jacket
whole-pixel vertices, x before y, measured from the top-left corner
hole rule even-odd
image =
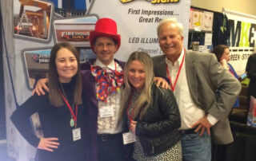
[[[125,88],[122,92],[122,108],[121,108],[121,116],[124,115],[124,112],[126,112],[127,105],[129,104],[130,97],[132,94],[133,87],[128,81],[128,73],[130,69],[130,63],[132,61],[139,61],[142,63],[144,70],[145,70],[145,84],[144,88],[142,89],[142,92],[140,93],[140,96],[138,97],[138,100],[134,103],[134,118],[139,116],[140,119],[142,119],[142,116],[146,113],[147,108],[150,106],[150,100],[151,100],[151,86],[154,83],[154,71],[153,71],[153,61],[151,60],[151,57],[149,54],[144,52],[134,52],[130,55],[128,61],[126,62],[126,66],[124,69],[124,83]]]

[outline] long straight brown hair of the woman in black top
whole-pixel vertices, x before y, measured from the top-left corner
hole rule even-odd
[[[72,77],[72,90],[74,93],[74,104],[82,104],[82,80],[81,80],[81,73],[80,73],[80,58],[77,49],[74,48],[73,45],[71,45],[68,42],[61,42],[51,49],[50,52],[50,63],[49,63],[49,99],[50,104],[54,105],[55,107],[61,107],[64,105],[62,97],[59,92],[59,80],[58,80],[58,72],[57,67],[55,63],[55,59],[57,57],[57,53],[59,49],[66,48],[69,49],[70,52],[74,54],[74,57],[78,61],[78,73]]]

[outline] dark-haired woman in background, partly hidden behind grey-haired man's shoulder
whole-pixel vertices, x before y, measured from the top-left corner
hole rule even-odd
[[[239,80],[238,74],[234,71],[234,68],[230,63],[230,49],[227,45],[217,45],[212,51],[217,57],[218,62],[222,64],[224,69],[227,69],[235,78]],[[233,108],[239,107],[239,98],[235,101]]]

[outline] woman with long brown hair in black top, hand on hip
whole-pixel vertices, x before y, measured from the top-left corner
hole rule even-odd
[[[35,160],[86,160],[84,108],[79,55],[73,45],[54,45],[50,53],[49,93],[31,96],[10,119],[22,136],[37,147]],[[43,137],[31,131],[28,120],[38,112]]]

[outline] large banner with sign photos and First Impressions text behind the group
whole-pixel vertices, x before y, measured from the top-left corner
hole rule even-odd
[[[54,3],[49,0],[1,2],[5,32],[2,40],[6,42],[3,55],[8,153],[17,161],[33,161],[36,148],[22,138],[9,118],[17,106],[31,96],[34,83],[47,77],[50,49],[54,44],[70,42],[78,49],[81,63],[84,63],[95,57],[89,41],[95,22],[98,18],[112,18],[121,35],[121,46],[115,58],[126,61],[136,50],[154,57],[162,54],[156,31],[158,22],[163,18],[177,18],[184,26],[184,46],[187,46],[190,0],[86,0],[86,8],[85,16],[63,18],[54,13]],[[31,120],[39,126],[36,119]]]

